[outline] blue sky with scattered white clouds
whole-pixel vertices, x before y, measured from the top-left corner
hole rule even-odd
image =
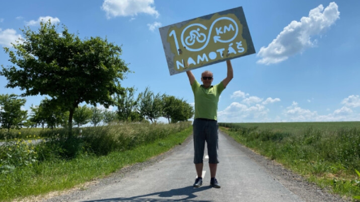
[[[20,29],[40,20],[64,24],[81,38],[100,36],[122,46],[134,73],[121,82],[136,94],[155,93],[193,104],[186,73],[170,76],[159,27],[243,7],[256,54],[232,60],[234,78],[223,91],[219,122],[360,121],[360,1],[1,1],[0,47],[22,37]],[[0,50],[0,64],[10,65]],[[193,70],[213,72],[218,83],[226,63]],[[0,93],[21,94],[5,88]],[[26,97],[25,109],[41,96]]]

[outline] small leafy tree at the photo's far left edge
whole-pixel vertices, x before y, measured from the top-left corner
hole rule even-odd
[[[22,111],[26,99],[19,99],[16,94],[0,94],[0,124],[3,129],[20,129],[27,118],[27,112]]]

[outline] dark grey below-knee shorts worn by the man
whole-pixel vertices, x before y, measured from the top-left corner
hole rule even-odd
[[[209,163],[218,160],[218,122],[215,120],[195,119],[193,123],[194,163],[203,163],[205,141]]]

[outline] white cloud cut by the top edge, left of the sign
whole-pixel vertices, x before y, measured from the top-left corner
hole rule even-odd
[[[106,12],[108,19],[117,16],[136,16],[138,13],[145,13],[156,18],[159,12],[152,7],[154,0],[105,0],[101,9]]]

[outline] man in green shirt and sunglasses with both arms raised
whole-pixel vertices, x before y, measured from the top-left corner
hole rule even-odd
[[[218,102],[221,92],[226,88],[233,78],[233,67],[231,61],[227,60],[227,77],[217,85],[211,85],[213,81],[212,73],[204,71],[201,74],[202,85],[197,82],[192,72],[186,71],[190,85],[194,93],[195,116],[193,123],[194,138],[194,164],[197,173],[194,187],[202,185],[202,167],[205,141],[207,144],[207,154],[209,156],[210,185],[220,188],[220,184],[215,178],[218,167]]]

